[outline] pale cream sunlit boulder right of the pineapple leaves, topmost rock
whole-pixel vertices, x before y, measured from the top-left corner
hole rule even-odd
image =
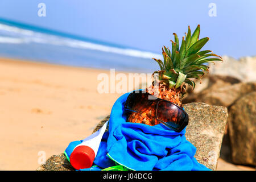
[[[256,56],[241,57],[236,60],[229,56],[223,56],[223,62],[210,63],[210,75],[229,76],[242,82],[256,81]]]

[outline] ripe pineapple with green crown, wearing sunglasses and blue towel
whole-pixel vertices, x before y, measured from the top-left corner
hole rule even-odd
[[[205,63],[222,61],[222,58],[212,51],[200,51],[209,38],[199,39],[199,34],[200,25],[196,27],[192,35],[188,26],[188,32],[185,33],[185,37],[183,36],[179,48],[179,39],[174,33],[175,41],[171,40],[171,51],[168,47],[162,48],[163,61],[153,58],[159,64],[160,70],[154,72],[158,73],[158,78],[154,78],[152,85],[146,88],[147,93],[183,106],[181,100],[186,94],[186,85],[195,88],[193,78],[199,78],[201,81],[201,77],[205,74],[204,71],[209,69]],[[142,113],[132,112],[127,122],[144,123],[150,126],[159,124],[155,119],[154,105],[140,109]]]

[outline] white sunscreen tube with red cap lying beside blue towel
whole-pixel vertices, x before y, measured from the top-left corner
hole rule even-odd
[[[70,163],[75,169],[92,167],[93,160],[97,155],[101,139],[108,126],[107,121],[100,130],[85,138],[82,143],[77,145],[70,156]]]

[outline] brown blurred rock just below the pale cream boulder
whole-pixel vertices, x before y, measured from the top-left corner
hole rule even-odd
[[[256,82],[240,82],[228,86],[223,86],[225,84],[220,82],[218,80],[210,88],[187,98],[184,102],[204,102],[210,105],[229,107],[245,94],[256,91]]]

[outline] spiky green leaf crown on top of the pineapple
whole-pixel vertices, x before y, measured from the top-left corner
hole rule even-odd
[[[171,88],[180,88],[185,93],[185,83],[195,88],[195,81],[192,78],[200,78],[204,76],[204,71],[208,71],[208,65],[205,63],[214,63],[213,61],[222,61],[212,51],[201,51],[201,48],[208,42],[209,38],[199,39],[200,25],[198,25],[191,35],[190,27],[188,32],[183,36],[181,46],[179,47],[179,39],[174,33],[174,42],[171,40],[171,50],[165,46],[162,48],[163,61],[153,58],[160,67],[159,80],[163,84]],[[182,94],[182,92],[181,92]]]

